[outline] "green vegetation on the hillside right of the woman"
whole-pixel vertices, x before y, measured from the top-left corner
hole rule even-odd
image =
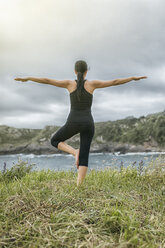
[[[103,140],[143,145],[155,142],[159,147],[165,146],[165,111],[140,118],[126,118],[117,121],[98,123],[96,136]]]

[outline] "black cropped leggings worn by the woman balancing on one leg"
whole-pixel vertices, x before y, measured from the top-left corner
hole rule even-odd
[[[71,119],[71,118],[70,118]],[[69,121],[59,128],[56,133],[51,137],[51,145],[58,148],[58,143],[63,142],[73,135],[80,133],[80,154],[79,154],[79,166],[88,167],[88,158],[90,145],[95,132],[95,126],[93,118],[88,116],[80,121]]]

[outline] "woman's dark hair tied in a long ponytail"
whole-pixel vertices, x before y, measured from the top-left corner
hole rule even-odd
[[[88,70],[87,63],[84,60],[78,60],[75,63],[75,70],[77,71],[77,97],[80,101],[81,91],[83,88],[83,74]]]

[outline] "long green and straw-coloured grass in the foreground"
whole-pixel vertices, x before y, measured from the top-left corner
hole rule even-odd
[[[165,247],[165,164],[0,173],[0,247]]]

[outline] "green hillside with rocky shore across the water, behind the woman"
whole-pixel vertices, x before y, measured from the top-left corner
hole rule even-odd
[[[14,128],[0,125],[0,154],[62,153],[50,144],[50,138],[60,127],[43,129]],[[79,147],[79,134],[66,141]],[[165,111],[146,117],[95,123],[91,152],[165,151]]]

